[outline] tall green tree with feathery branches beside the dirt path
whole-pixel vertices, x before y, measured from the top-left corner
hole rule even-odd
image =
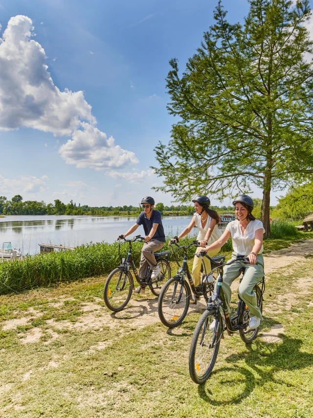
[[[156,147],[163,186],[182,201],[263,189],[261,219],[270,234],[270,191],[313,176],[312,42],[309,0],[249,0],[243,24],[219,2],[186,70],[170,61],[169,113],[179,116]]]

